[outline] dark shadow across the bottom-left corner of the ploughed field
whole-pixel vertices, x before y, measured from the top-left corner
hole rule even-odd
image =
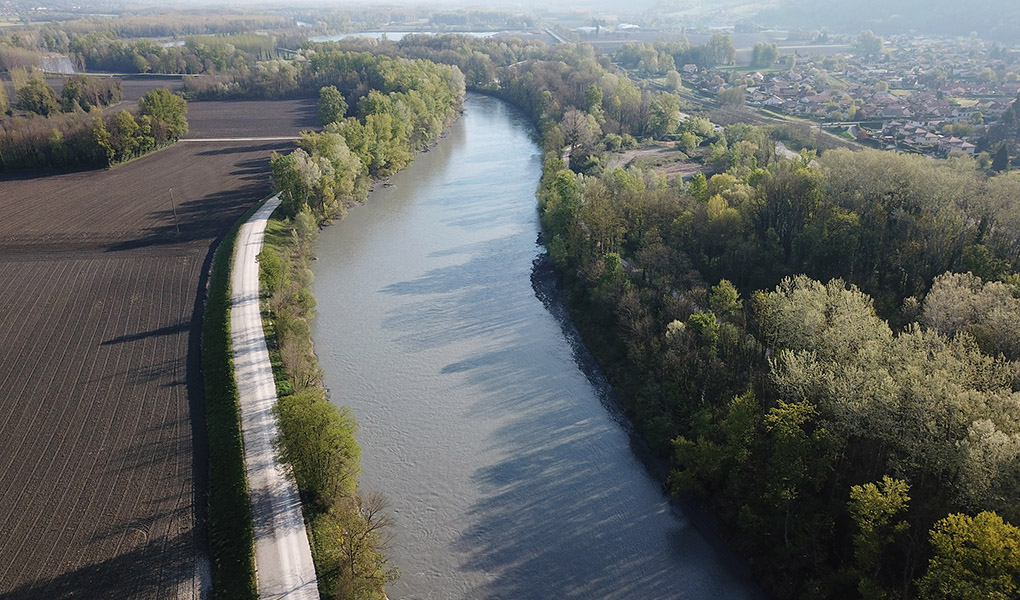
[[[54,578],[39,580],[0,594],[0,600],[79,600],[81,598],[175,598],[198,597],[195,563],[167,561],[168,556],[194,554],[190,533],[149,538],[144,531],[125,528],[121,552],[112,558],[91,562]],[[124,547],[137,547],[123,551]]]

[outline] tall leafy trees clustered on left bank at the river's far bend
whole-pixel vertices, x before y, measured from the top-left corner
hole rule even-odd
[[[303,134],[298,150],[271,159],[289,215],[308,209],[319,219],[342,216],[372,178],[403,168],[438,138],[464,96],[459,69],[426,60],[319,52],[307,69],[310,80],[337,85],[320,91],[321,133]]]

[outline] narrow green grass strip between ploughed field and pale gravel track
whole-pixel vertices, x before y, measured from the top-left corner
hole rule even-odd
[[[231,352],[231,270],[238,231],[257,203],[223,237],[209,273],[202,322],[202,373],[209,432],[209,558],[212,597],[255,600],[255,534],[245,473],[241,408]]]

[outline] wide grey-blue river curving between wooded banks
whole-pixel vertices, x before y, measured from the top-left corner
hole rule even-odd
[[[361,423],[362,487],[397,519],[390,597],[756,597],[648,474],[532,288],[541,160],[521,114],[469,96],[320,239],[313,338]]]

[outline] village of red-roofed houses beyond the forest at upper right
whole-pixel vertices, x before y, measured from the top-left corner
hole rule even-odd
[[[721,93],[743,87],[751,107],[869,146],[933,156],[997,150],[988,143],[989,123],[1020,93],[1020,52],[977,39],[920,36],[878,39],[871,53],[848,50],[828,56],[797,50],[767,67],[677,67],[684,85],[704,94],[740,99]]]

